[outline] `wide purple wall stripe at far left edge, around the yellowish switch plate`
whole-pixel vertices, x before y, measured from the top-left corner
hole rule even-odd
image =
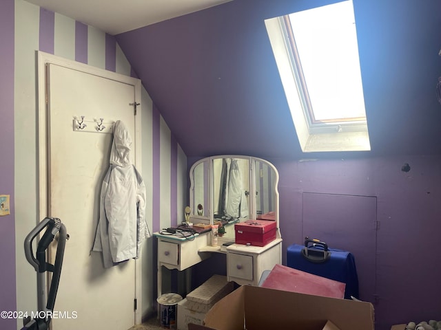
[[[14,0],[0,1],[0,41],[0,195],[10,195],[10,214],[0,217],[0,311],[15,311]],[[14,327],[0,318],[0,329]]]

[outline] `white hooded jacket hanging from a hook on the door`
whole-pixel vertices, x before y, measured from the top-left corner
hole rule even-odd
[[[103,179],[100,217],[92,251],[103,252],[104,267],[139,257],[150,237],[145,221],[145,184],[130,159],[132,138],[121,120],[114,124],[110,166]]]

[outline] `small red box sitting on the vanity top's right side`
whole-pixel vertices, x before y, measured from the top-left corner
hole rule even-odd
[[[247,220],[236,223],[234,225],[236,243],[265,246],[276,239],[276,224],[276,221],[268,220]]]

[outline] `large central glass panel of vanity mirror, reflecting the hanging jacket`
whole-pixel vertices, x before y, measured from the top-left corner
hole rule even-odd
[[[223,157],[212,164],[214,220],[249,219],[249,160]]]

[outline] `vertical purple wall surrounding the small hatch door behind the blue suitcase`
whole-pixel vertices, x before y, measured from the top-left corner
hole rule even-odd
[[[441,319],[441,156],[268,160],[280,175],[283,263],[287,247],[303,242],[303,192],[374,196],[379,227],[376,269],[369,272],[376,274],[376,330]],[[405,163],[409,172],[402,171]]]

